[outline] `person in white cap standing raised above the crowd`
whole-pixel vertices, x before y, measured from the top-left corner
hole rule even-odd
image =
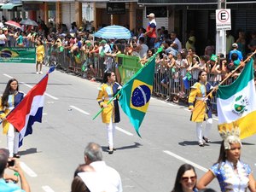
[[[148,49],[152,49],[154,48],[154,42],[156,39],[156,21],[155,21],[155,17],[154,14],[151,13],[149,15],[147,15],[148,17],[148,26],[146,28],[146,32],[143,34],[144,37],[147,37],[147,45],[148,45]]]

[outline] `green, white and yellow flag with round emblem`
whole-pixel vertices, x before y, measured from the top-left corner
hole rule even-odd
[[[229,85],[219,85],[217,91],[218,131],[238,126],[241,139],[256,133],[256,94],[253,60]]]

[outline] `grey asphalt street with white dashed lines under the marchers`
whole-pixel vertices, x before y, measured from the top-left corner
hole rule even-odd
[[[44,74],[47,69],[44,67]],[[3,93],[9,77],[14,77],[24,82],[20,90],[27,93],[31,88],[26,85],[33,86],[43,77],[34,71],[34,65],[0,64],[0,92]],[[212,143],[200,148],[195,137],[195,123],[189,121],[187,108],[155,98],[150,100],[140,128],[142,138],[121,113],[114,137],[117,150],[108,154],[101,115],[92,120],[100,110],[96,102],[99,85],[57,70],[49,74],[43,123],[33,125],[33,134],[25,137],[20,148],[20,160],[31,174],[34,173],[33,177],[26,174],[32,191],[70,191],[73,172],[84,163],[84,147],[89,142],[102,145],[103,160],[120,173],[125,192],[171,191],[177,169],[183,163],[192,163],[201,177],[217,161],[221,142],[217,121],[213,120]],[[254,177],[255,138],[243,140],[241,151],[241,160],[252,167]],[[6,146],[3,135],[0,145]],[[209,187],[219,191],[216,179]]]

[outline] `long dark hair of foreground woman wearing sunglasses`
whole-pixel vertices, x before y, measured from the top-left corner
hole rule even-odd
[[[180,183],[180,181],[183,177],[184,172],[187,172],[189,170],[193,170],[193,172],[195,172],[194,166],[191,166],[189,164],[183,164],[178,168],[177,176],[176,176],[176,180],[175,180],[172,192],[183,192],[182,184]],[[196,176],[196,173],[195,173],[195,176]]]

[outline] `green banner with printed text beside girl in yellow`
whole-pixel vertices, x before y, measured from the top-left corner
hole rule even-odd
[[[36,48],[1,47],[0,63],[36,63]]]

